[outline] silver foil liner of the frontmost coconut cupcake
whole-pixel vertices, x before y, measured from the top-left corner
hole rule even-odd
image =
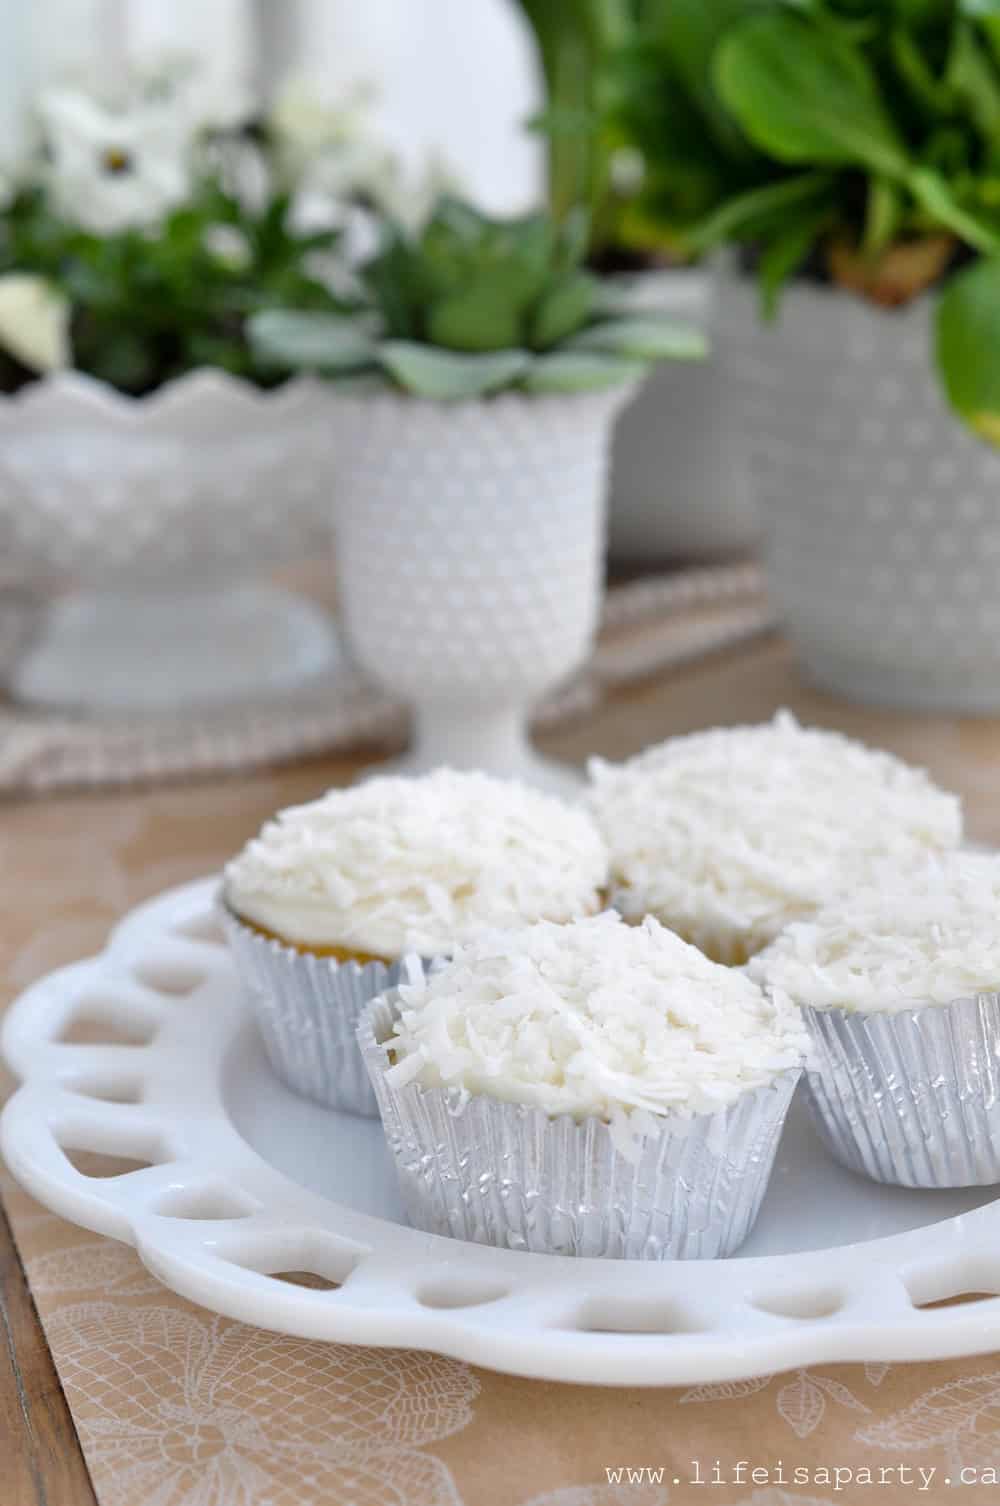
[[[715,1114],[664,1119],[631,1161],[601,1119],[553,1119],[455,1087],[393,1087],[383,1042],[396,1017],[393,994],[373,1000],[358,1042],[416,1227],[509,1250],[628,1261],[715,1259],[750,1233],[798,1069]]]

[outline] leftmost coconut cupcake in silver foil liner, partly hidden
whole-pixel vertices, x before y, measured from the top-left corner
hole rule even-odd
[[[605,883],[586,812],[438,770],[280,812],[226,867],[221,901],[276,1072],[331,1108],[375,1114],[363,1005],[483,928],[593,914]]]

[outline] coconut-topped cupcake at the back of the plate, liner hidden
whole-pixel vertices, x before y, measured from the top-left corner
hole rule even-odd
[[[955,848],[961,804],[922,770],[789,712],[590,764],[611,898],[717,962],[741,964],[873,860]]]

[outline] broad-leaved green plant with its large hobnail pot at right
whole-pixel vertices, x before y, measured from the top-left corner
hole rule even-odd
[[[658,211],[730,288],[774,595],[807,673],[1000,706],[1000,12],[973,0],[681,5],[712,164]],[[711,131],[711,137],[709,137]]]

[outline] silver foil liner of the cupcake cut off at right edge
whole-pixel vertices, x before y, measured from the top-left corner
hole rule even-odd
[[[803,1017],[806,1099],[839,1161],[899,1187],[1000,1182],[1000,994]]]

